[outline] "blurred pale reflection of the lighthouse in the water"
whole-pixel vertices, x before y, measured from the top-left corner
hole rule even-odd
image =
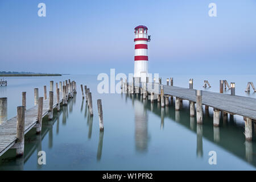
[[[146,100],[144,100],[146,102]],[[148,115],[144,105],[139,100],[134,101],[135,110],[135,147],[139,152],[147,151],[148,132],[147,122]]]

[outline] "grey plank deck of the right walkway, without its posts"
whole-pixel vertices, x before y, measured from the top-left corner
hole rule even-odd
[[[153,85],[154,86],[152,86],[151,83],[148,83],[147,91],[149,93],[155,92],[155,94],[160,94],[159,84]],[[135,86],[141,87],[141,84],[135,84]],[[156,89],[152,89],[154,87]],[[158,90],[158,93],[156,90]],[[182,100],[196,102],[195,89],[164,85],[164,94],[174,96]],[[256,120],[256,98],[231,96],[230,94],[203,91],[202,99],[203,105]]]

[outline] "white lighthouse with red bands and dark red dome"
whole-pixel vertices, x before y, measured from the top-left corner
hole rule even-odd
[[[135,82],[146,82],[148,73],[148,55],[147,42],[150,41],[150,36],[147,36],[147,27],[140,25],[134,28],[134,78]]]

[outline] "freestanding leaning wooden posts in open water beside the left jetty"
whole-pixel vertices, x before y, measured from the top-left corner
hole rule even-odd
[[[81,84],[81,92],[82,92],[82,99],[85,98],[85,101],[88,102],[90,116],[92,117],[93,116],[92,93],[90,92],[90,89],[87,88],[86,85],[83,87],[82,84]],[[97,105],[98,105],[98,118],[99,118],[100,131],[103,131],[104,130],[104,122],[103,122],[101,99],[97,100]]]

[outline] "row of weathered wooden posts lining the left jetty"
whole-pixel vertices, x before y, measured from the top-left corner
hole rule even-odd
[[[62,85],[63,84],[63,85]],[[73,98],[76,94],[76,82],[65,80],[65,82],[56,82],[56,94],[57,94],[57,111],[60,111],[60,91],[63,92],[63,105],[68,104],[68,100]],[[39,97],[39,89],[34,89],[34,104],[38,105],[38,114],[36,125],[36,134],[40,134],[42,130],[42,117],[43,117],[43,102],[47,99],[47,86],[44,86],[44,97]],[[16,115],[16,142],[12,148],[16,148],[16,155],[20,156],[24,154],[24,127],[25,127],[25,110],[26,110],[26,92],[22,92],[22,106],[17,107]],[[5,121],[7,121],[7,98],[0,98],[0,116],[6,115]],[[2,118],[2,117],[0,117]],[[51,120],[53,118],[53,81],[50,81],[50,91],[49,91],[49,110],[48,118]]]

